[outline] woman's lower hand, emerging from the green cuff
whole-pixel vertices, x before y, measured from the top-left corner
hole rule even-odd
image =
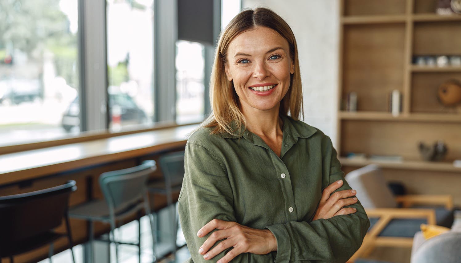
[[[265,255],[277,250],[277,240],[270,230],[252,229],[236,222],[219,219],[213,219],[207,223],[198,231],[197,236],[203,237],[214,229],[219,230],[213,232],[199,249],[199,253],[204,255],[205,259],[211,259],[232,246],[234,248],[218,263],[230,262],[234,257],[245,252]],[[208,251],[219,240],[223,241]]]

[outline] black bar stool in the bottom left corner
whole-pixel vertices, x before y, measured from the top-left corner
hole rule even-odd
[[[67,237],[71,249],[72,236],[67,211],[69,196],[77,189],[75,181],[24,194],[0,197],[0,263],[2,257],[29,252],[50,244],[48,257],[53,256],[53,242]],[[67,234],[56,233],[53,229],[60,226],[64,217]]]

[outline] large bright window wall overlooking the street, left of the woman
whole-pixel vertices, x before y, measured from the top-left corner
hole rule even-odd
[[[203,120],[214,47],[175,38],[178,3],[0,0],[0,147]],[[222,28],[240,8],[221,0]]]

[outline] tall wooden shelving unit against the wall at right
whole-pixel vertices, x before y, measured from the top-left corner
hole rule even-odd
[[[453,161],[461,160],[461,106],[443,106],[437,88],[446,80],[461,81],[461,66],[414,61],[461,56],[461,15],[437,15],[436,5],[437,0],[341,0],[337,150],[344,172],[378,163],[387,179],[404,183],[408,192],[453,194],[459,206],[461,167]],[[402,96],[398,115],[390,113],[393,90]],[[343,107],[350,92],[357,95],[356,112]],[[448,147],[445,159],[422,160],[418,144],[438,140]],[[361,158],[347,158],[350,153]],[[401,158],[385,160],[389,156]]]

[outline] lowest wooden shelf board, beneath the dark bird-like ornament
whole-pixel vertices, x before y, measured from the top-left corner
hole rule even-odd
[[[453,166],[452,162],[429,162],[429,161],[375,161],[375,160],[352,160],[339,157],[342,166],[366,166],[377,164],[381,168],[437,171],[437,172],[461,172],[461,167]]]

